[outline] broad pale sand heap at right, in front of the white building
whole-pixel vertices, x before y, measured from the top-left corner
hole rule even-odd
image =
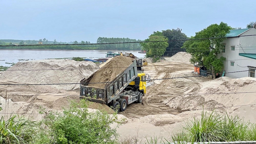
[[[219,112],[228,112],[228,114],[239,115],[245,120],[250,119],[251,122],[256,122],[256,117],[251,115],[256,112],[255,105],[250,105],[256,103],[256,94],[252,93],[255,91],[256,78],[230,79],[221,77],[203,83],[196,82],[183,89],[184,95],[174,96],[164,103],[180,110],[202,109],[203,106],[204,109],[215,108]]]

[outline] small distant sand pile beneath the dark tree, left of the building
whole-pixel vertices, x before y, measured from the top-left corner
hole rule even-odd
[[[164,57],[164,59],[168,61],[187,63],[187,64],[190,64],[189,62],[190,58],[191,58],[191,55],[187,52],[178,52],[172,57]]]

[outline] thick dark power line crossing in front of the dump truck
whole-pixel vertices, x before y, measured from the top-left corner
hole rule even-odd
[[[252,70],[244,70],[244,71],[236,71],[236,72],[248,72]],[[223,73],[235,73],[235,72],[223,72]],[[219,74],[223,74],[219,73]],[[207,76],[216,75],[216,74],[207,74]],[[152,80],[169,80],[169,79],[179,79],[179,78],[192,78],[192,77],[202,77],[202,75],[197,76],[188,76],[188,77],[175,77],[175,78],[162,78],[162,79],[152,79]],[[150,79],[151,80],[151,79]],[[127,81],[118,81],[118,82],[132,82],[133,80]],[[141,80],[142,81],[142,80]],[[99,83],[115,83],[116,81],[109,81],[109,82],[93,82],[93,83],[83,83],[83,84],[99,84]],[[9,85],[72,85],[72,84],[80,84],[80,83],[55,83],[55,84],[0,84],[0,86],[9,86]]]

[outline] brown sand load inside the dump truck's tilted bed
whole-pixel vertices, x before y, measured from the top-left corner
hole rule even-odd
[[[131,57],[125,57],[125,56],[114,57],[113,59],[108,61],[108,63],[106,63],[104,66],[102,66],[101,69],[98,70],[93,75],[90,83],[96,83],[96,84],[89,84],[88,86],[103,88],[106,83],[97,83],[97,82],[113,81],[118,74],[123,72],[125,69],[127,69],[128,66],[132,64],[132,60],[134,59]]]

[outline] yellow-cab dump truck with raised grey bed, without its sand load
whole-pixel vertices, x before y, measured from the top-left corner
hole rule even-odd
[[[126,110],[127,105],[133,102],[142,102],[142,97],[146,94],[146,81],[150,80],[150,76],[137,71],[135,59],[124,71],[120,71],[114,80],[106,82],[104,87],[90,86],[96,72],[80,81],[80,98],[105,103],[116,112]]]

